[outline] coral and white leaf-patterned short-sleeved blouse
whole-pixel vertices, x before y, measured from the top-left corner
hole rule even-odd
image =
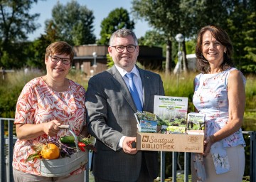
[[[85,89],[69,80],[70,86],[65,92],[55,92],[46,85],[42,77],[36,77],[28,82],[18,97],[14,124],[40,124],[53,119],[63,121],[70,129],[80,135],[85,125]],[[71,135],[67,129],[60,129],[57,137]],[[46,140],[46,134],[31,140],[17,139],[14,146],[13,167],[18,171],[41,176],[40,160],[27,161],[35,151],[31,146]],[[73,173],[81,173],[85,167]],[[73,174],[72,173],[72,174]]]

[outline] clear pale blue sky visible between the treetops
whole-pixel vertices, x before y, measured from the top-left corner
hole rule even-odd
[[[42,33],[44,33],[44,22],[46,19],[50,19],[51,11],[53,9],[53,6],[57,4],[57,2],[60,1],[61,4],[67,4],[71,0],[46,0],[46,1],[38,1],[37,4],[33,4],[33,7],[30,11],[31,14],[38,13],[40,14],[38,18],[38,23],[41,24],[41,27],[38,28],[34,33],[28,35],[28,39],[33,41],[35,38],[38,38]],[[94,28],[95,28],[95,36],[97,38],[100,38],[100,23],[104,18],[110,14],[110,11],[113,11],[117,8],[124,8],[127,9],[128,12],[131,12],[132,9],[132,0],[77,0],[78,4],[81,6],[86,6],[87,9],[90,9],[93,11],[93,15],[95,16],[94,20]],[[130,15],[130,18],[133,18],[132,15]],[[144,36],[146,31],[149,31],[151,28],[149,28],[148,23],[146,21],[135,21],[135,28],[134,33],[136,33],[137,38],[140,38],[141,36]]]

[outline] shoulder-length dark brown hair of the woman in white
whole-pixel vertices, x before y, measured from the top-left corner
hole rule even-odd
[[[225,53],[223,57],[223,63],[221,63],[220,65],[220,69],[225,70],[226,66],[234,66],[233,60],[231,58],[233,54],[233,46],[228,36],[228,33],[226,33],[222,28],[218,26],[204,26],[198,33],[196,43],[196,58],[198,70],[202,73],[208,73],[210,71],[210,64],[208,63],[208,60],[204,58],[202,51],[203,34],[206,31],[210,31],[212,36],[227,49],[227,53]]]

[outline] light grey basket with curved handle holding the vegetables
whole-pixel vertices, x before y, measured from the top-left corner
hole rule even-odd
[[[75,144],[78,153],[72,154],[70,157],[64,157],[60,159],[41,159],[41,176],[46,177],[58,177],[58,176],[68,176],[71,172],[84,166],[88,163],[88,151],[80,151],[78,149],[78,139],[75,134],[71,131],[71,134],[75,137]]]

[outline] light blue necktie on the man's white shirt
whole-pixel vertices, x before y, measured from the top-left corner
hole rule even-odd
[[[133,81],[134,73],[127,73],[125,76],[129,78],[129,91],[131,92],[131,95],[132,95],[134,103],[137,107],[137,110],[142,111],[142,102],[139,99],[139,93],[138,93],[138,91],[134,85],[134,81]]]

